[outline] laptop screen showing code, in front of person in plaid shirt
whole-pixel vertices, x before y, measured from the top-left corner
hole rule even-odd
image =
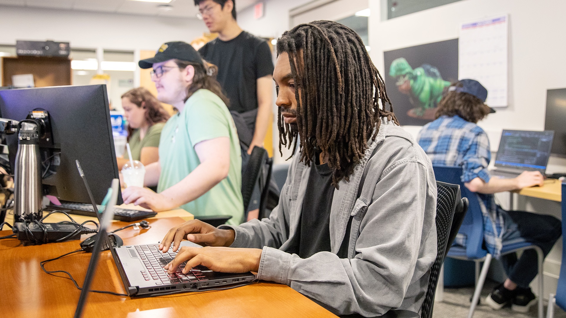
[[[544,173],[554,131],[503,130],[495,166]]]

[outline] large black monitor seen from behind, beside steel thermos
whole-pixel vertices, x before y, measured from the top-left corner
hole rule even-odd
[[[76,169],[75,160],[79,160],[88,175],[92,195],[100,203],[112,179],[118,178],[106,85],[0,91],[2,118],[22,121],[29,111],[37,108],[49,112],[53,131],[52,149],[41,149],[43,170],[49,166],[42,181],[44,194],[59,200],[91,203]],[[10,164],[14,167],[17,135],[8,135],[6,140]],[[118,204],[122,204],[121,194]]]

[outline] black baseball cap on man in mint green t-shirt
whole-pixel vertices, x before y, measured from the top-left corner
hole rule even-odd
[[[155,57],[142,59],[138,62],[138,65],[140,68],[152,68],[153,63],[161,63],[174,58],[196,63],[204,67],[203,58],[200,57],[199,52],[197,52],[192,45],[182,41],[162,44],[155,52]]]

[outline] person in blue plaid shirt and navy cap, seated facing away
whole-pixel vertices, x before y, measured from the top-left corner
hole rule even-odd
[[[495,113],[485,104],[486,98],[487,89],[477,80],[463,79],[452,84],[439,102],[436,120],[419,132],[418,143],[432,165],[462,167],[464,186],[480,199],[488,252],[498,258],[502,244],[515,240],[541,247],[546,257],[560,237],[560,221],[548,215],[506,211],[495,204],[495,193],[543,186],[544,177],[539,171],[524,171],[512,179],[490,176],[490,141],[477,125]],[[466,239],[457,237],[455,243],[465,246]],[[529,287],[538,273],[537,252],[526,250],[518,258],[511,253],[500,260],[508,278],[487,296],[486,303],[496,310],[511,304],[512,310],[527,312],[537,302]]]

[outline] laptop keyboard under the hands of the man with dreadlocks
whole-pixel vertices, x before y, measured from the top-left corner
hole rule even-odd
[[[173,252],[173,248],[171,248],[167,253],[162,253],[157,244],[136,245],[135,248],[145,267],[145,270],[142,270],[141,274],[146,281],[153,280],[157,285],[207,281],[208,278],[204,276],[203,270],[212,272],[212,270],[209,270],[206,267],[198,266],[191,269],[187,274],[183,274],[182,270],[186,265],[186,262],[184,262],[179,265],[179,268],[177,268],[175,273],[169,274],[164,267],[175,258],[175,255],[177,255],[177,252]],[[134,253],[134,251],[131,251],[130,253]]]

